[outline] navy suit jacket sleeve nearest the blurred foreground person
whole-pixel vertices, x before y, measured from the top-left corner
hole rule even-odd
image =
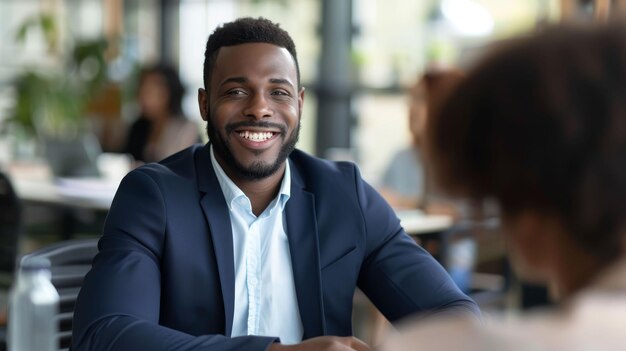
[[[393,209],[358,171],[355,184],[367,231],[367,256],[358,285],[376,307],[390,321],[414,314],[458,313],[480,318],[476,303],[406,234]]]

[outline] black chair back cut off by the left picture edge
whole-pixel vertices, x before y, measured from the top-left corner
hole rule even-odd
[[[20,201],[10,180],[0,172],[0,314],[6,312],[6,300],[15,276],[22,226],[21,212]],[[5,317],[0,316],[0,320],[4,320]],[[6,350],[6,325],[0,322],[0,351],[4,350]]]

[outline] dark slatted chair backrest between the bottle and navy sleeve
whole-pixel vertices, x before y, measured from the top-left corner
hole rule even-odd
[[[98,253],[98,239],[76,239],[46,246],[24,255],[22,262],[33,257],[50,260],[52,284],[59,292],[59,349],[67,350],[72,344],[72,319],[78,292],[85,274],[91,269]]]

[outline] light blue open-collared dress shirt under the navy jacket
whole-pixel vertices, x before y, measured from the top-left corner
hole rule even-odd
[[[250,199],[220,167],[213,147],[211,163],[230,210],[233,231],[235,311],[231,336],[277,336],[283,344],[298,343],[303,328],[283,215],[291,196],[289,161],[278,196],[258,217]]]

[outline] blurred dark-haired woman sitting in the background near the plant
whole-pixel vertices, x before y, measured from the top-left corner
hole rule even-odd
[[[139,163],[158,162],[200,142],[197,124],[183,115],[184,93],[178,72],[170,65],[142,69],[137,91],[140,115],[130,128],[123,152]]]

